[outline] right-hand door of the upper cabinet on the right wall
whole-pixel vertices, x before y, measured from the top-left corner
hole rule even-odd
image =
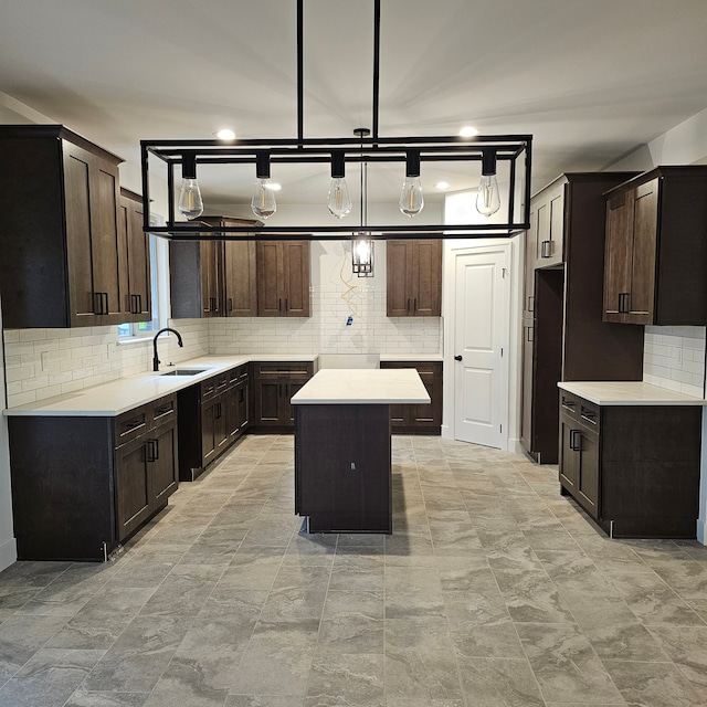
[[[658,180],[636,187],[633,196],[633,258],[629,324],[653,324],[657,249]]]

